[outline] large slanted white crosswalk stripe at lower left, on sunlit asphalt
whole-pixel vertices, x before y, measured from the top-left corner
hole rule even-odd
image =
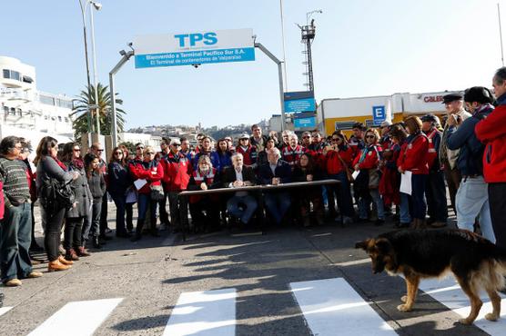
[[[92,335],[121,301],[123,299],[69,302],[29,336]]]

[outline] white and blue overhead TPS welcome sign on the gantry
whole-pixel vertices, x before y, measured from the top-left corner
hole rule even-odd
[[[138,36],[134,48],[136,68],[255,60],[251,29]]]

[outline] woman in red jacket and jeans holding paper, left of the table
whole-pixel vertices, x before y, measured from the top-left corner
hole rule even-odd
[[[144,160],[142,162],[131,162],[129,164],[132,177],[140,182],[146,182],[138,190],[137,201],[137,227],[136,235],[132,237],[132,242],[137,242],[142,237],[142,227],[146,218],[147,209],[150,210],[151,234],[158,236],[157,232],[157,200],[151,198],[152,188],[157,186],[161,189],[161,180],[164,177],[164,170],[161,164],[155,160],[155,150],[151,146],[144,149]],[[143,181],[144,180],[144,181]],[[163,193],[163,190],[162,192]]]

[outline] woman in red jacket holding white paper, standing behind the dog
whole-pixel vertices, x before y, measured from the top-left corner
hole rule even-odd
[[[399,173],[410,171],[411,175],[411,200],[413,204],[413,225],[415,229],[425,227],[425,183],[429,175],[427,155],[429,153],[429,139],[421,132],[421,120],[417,116],[410,116],[405,121],[406,130],[410,134],[406,143],[400,148],[397,166]]]

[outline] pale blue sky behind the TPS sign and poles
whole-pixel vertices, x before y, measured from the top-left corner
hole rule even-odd
[[[283,59],[278,0],[101,0],[95,12],[99,82],[136,35],[252,28]],[[498,1],[284,0],[287,91],[306,90],[297,24],[314,14],[315,96],[360,97],[491,86],[501,67]],[[506,1],[499,1],[506,34]],[[35,66],[37,87],[75,97],[86,85],[78,0],[0,1],[0,55]],[[89,15],[88,15],[89,18]],[[89,29],[89,22],[88,22]],[[90,43],[90,39],[88,39]],[[506,46],[506,45],[505,45]],[[91,55],[91,49],[90,49]],[[90,58],[91,63],[91,58]],[[93,73],[92,73],[93,74]],[[92,76],[93,80],[93,76]],[[135,69],[116,75],[126,128],[152,124],[252,124],[279,114],[278,68],[254,62]]]

